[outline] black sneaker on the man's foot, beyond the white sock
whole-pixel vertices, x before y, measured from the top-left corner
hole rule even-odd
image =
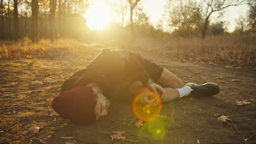
[[[213,82],[206,82],[203,85],[197,85],[196,83],[186,83],[185,86],[189,86],[193,89],[190,96],[193,97],[210,97],[219,93],[219,86]]]

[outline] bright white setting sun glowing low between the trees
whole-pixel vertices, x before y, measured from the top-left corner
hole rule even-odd
[[[96,1],[88,8],[84,17],[90,29],[102,30],[110,23],[110,10],[104,1]]]

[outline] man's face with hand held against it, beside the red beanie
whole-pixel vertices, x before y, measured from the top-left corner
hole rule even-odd
[[[101,116],[108,115],[108,112],[107,112],[108,106],[109,106],[109,100],[107,100],[106,97],[104,97],[104,95],[98,94],[96,99],[96,106],[95,106],[96,120]]]

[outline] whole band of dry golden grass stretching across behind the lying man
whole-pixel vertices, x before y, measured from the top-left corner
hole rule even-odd
[[[41,39],[32,43],[30,39],[0,41],[0,59],[40,58],[53,55],[51,49],[79,49],[86,46],[107,46],[109,49],[130,49],[152,52],[166,58],[194,61],[198,63],[234,65],[255,68],[256,35],[218,35],[201,38],[137,38],[136,40],[99,40],[83,43],[72,39],[51,42]],[[46,52],[46,53],[45,53]]]

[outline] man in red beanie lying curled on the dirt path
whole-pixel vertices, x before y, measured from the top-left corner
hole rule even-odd
[[[51,107],[62,118],[75,123],[91,123],[107,115],[110,101],[132,101],[156,106],[186,96],[208,97],[219,93],[216,83],[187,83],[165,68],[127,50],[103,49],[87,67],[66,80]],[[159,93],[161,99],[154,97]]]

